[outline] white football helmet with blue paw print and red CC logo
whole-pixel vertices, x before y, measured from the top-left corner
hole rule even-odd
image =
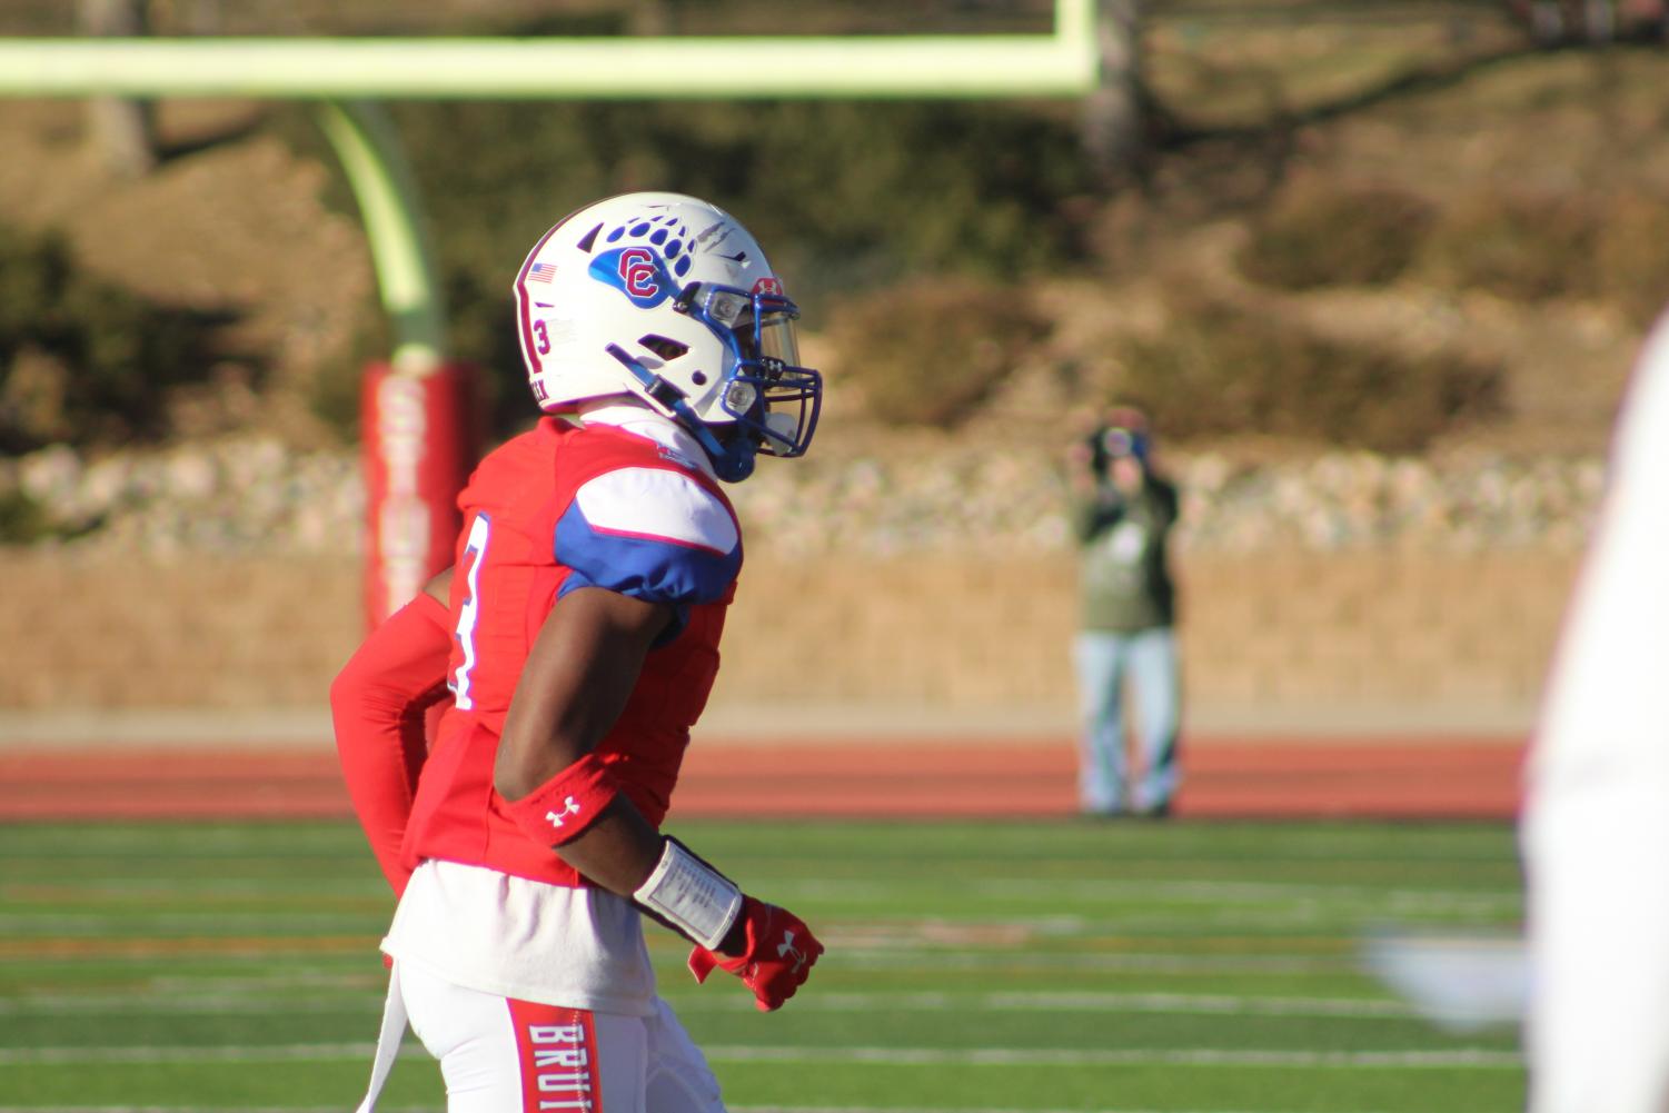
[[[516,327],[547,412],[631,394],[701,442],[728,482],[754,454],[803,456],[823,377],[764,252],[724,210],[621,194],[564,217],[516,275]]]

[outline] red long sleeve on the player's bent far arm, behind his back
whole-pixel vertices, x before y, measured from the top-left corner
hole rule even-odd
[[[399,894],[401,838],[427,758],[424,719],[446,694],[446,607],[422,592],[371,632],[330,684],[335,753],[359,826]]]

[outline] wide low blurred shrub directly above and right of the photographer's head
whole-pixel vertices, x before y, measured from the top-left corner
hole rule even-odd
[[[1173,320],[1122,352],[1123,395],[1168,437],[1272,436],[1414,452],[1500,407],[1500,369],[1345,345],[1232,305],[1173,297]]]

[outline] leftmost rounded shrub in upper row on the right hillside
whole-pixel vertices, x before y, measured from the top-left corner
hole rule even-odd
[[[1253,282],[1288,290],[1384,285],[1414,262],[1434,215],[1427,202],[1397,189],[1305,180],[1253,222],[1240,269]]]

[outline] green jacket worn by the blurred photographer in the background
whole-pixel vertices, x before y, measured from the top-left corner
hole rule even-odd
[[[1090,631],[1133,634],[1177,621],[1177,586],[1167,541],[1177,524],[1177,487],[1148,474],[1133,497],[1110,482],[1075,499],[1073,529],[1080,562],[1082,617]]]

